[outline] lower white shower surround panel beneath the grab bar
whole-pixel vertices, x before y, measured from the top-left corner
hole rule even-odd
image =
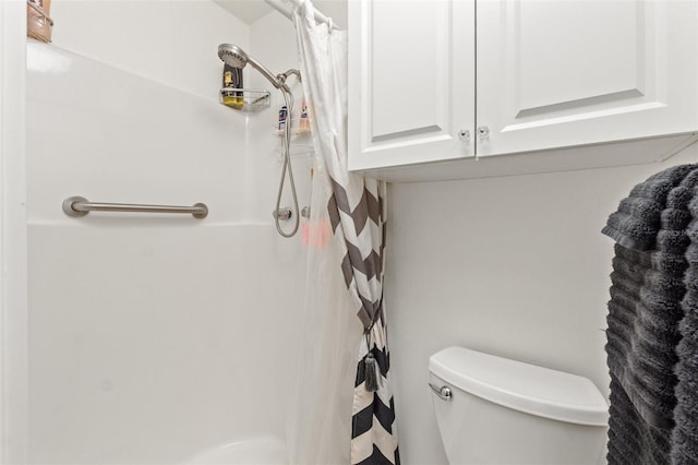
[[[303,273],[275,240],[267,225],[32,225],[29,463],[174,464],[282,439]]]

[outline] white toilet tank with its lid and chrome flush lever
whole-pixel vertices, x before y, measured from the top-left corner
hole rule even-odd
[[[429,371],[450,464],[603,463],[609,406],[588,379],[462,347]]]

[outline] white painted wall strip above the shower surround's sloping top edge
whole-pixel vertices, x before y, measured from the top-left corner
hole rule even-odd
[[[209,0],[55,0],[53,46],[217,100],[218,44],[249,26]]]

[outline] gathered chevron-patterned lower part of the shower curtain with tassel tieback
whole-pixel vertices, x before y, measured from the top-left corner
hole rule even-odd
[[[358,176],[349,180],[342,186],[333,179],[327,210],[335,235],[341,236],[341,271],[365,336],[354,383],[351,463],[399,464],[383,307],[386,184]]]

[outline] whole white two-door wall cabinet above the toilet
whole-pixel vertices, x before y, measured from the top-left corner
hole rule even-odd
[[[646,163],[698,131],[696,0],[357,0],[348,31],[352,170]]]

